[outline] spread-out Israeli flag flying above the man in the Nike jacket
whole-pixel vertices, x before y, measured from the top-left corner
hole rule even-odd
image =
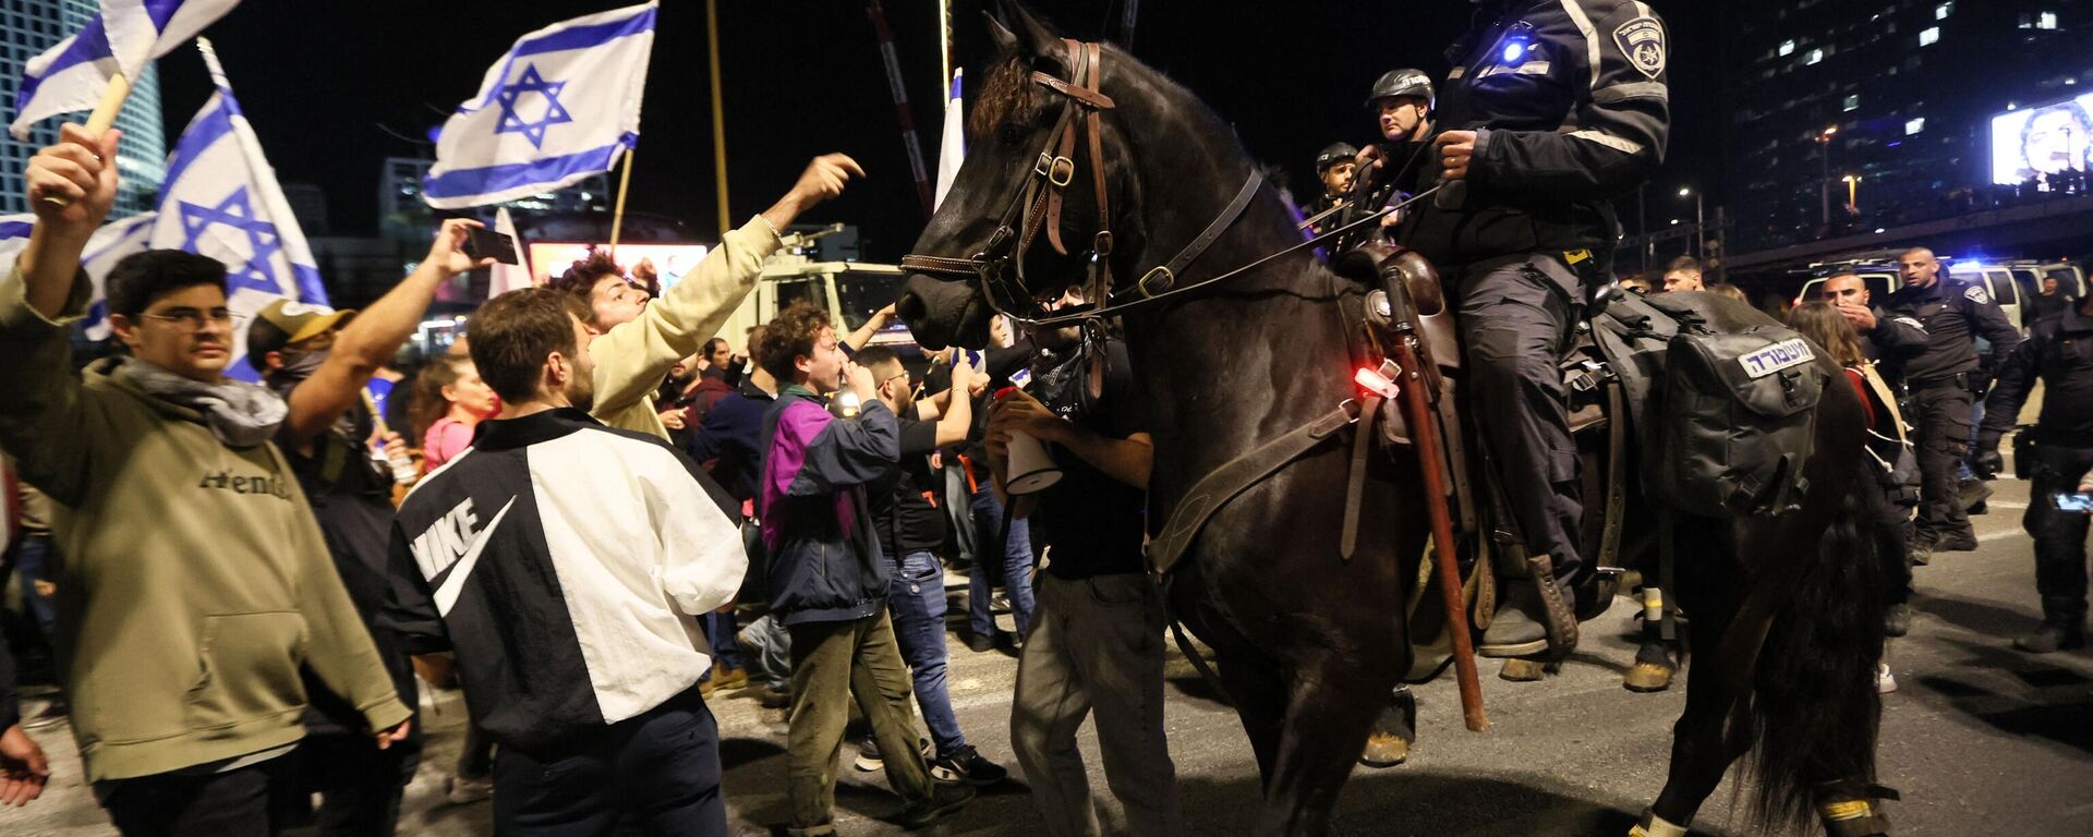
[[[609,172],[638,144],[655,2],[523,36],[435,140],[423,199],[481,207]]]

